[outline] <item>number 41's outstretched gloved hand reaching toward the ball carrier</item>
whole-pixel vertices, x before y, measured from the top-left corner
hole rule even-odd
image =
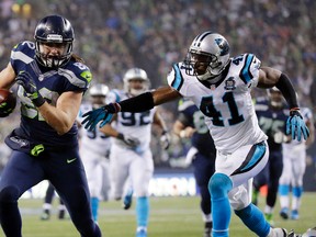
[[[86,129],[94,131],[95,126],[99,122],[101,122],[99,127],[103,127],[105,124],[111,122],[113,114],[120,112],[121,106],[119,103],[110,103],[104,106],[101,106],[97,110],[89,111],[82,115],[82,117],[86,117],[82,121],[82,125],[84,125]]]

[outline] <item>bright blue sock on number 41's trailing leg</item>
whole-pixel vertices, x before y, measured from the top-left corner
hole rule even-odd
[[[235,211],[236,215],[245,223],[245,225],[260,237],[268,236],[270,225],[266,221],[262,212],[252,203],[247,207]]]

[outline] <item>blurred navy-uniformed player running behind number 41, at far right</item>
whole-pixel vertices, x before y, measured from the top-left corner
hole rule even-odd
[[[261,172],[253,178],[252,203],[258,204],[260,188],[268,184],[264,216],[270,225],[274,226],[273,208],[283,168],[282,143],[286,139],[284,134],[289,109],[281,91],[275,87],[268,90],[268,98],[261,97],[256,100],[255,109],[259,126],[268,136],[269,161]]]

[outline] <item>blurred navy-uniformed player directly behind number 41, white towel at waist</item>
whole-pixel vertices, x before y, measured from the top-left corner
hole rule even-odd
[[[173,133],[181,138],[191,138],[185,162],[192,162],[194,177],[201,193],[201,211],[204,221],[204,237],[212,233],[212,205],[208,192],[208,180],[215,172],[216,149],[202,112],[191,100],[179,101],[179,115],[173,124]]]

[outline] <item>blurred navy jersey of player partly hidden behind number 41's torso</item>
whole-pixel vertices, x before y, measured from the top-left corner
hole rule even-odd
[[[178,109],[178,120],[181,121],[184,126],[191,126],[196,129],[191,138],[192,146],[205,157],[215,157],[216,148],[204,122],[203,113],[190,100],[181,100]]]

